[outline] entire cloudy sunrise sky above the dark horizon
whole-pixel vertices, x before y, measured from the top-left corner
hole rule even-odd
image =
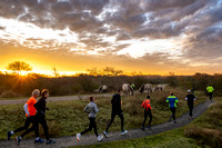
[[[222,73],[222,0],[0,0],[0,70]]]

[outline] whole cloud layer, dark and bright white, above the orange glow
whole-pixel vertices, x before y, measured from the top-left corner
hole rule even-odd
[[[0,22],[0,38],[17,46],[73,55],[127,53],[138,60],[164,55],[167,61],[178,58],[188,66],[211,59],[220,63],[221,3],[220,0],[1,0],[0,19],[9,23]],[[34,29],[38,31],[32,32]]]

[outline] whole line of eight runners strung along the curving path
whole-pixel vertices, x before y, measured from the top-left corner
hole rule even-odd
[[[206,91],[209,93],[210,100],[212,101],[212,96],[213,96],[213,87],[210,85],[206,88]],[[49,90],[43,89],[41,91],[41,98],[37,101],[37,98],[40,96],[40,91],[38,89],[34,89],[32,91],[32,97],[26,102],[26,105],[23,106],[23,109],[26,111],[26,122],[23,127],[20,127],[16,130],[12,131],[8,131],[8,140],[10,140],[11,136],[16,132],[26,130],[21,136],[16,137],[16,144],[19,146],[20,141],[22,140],[22,138],[28,135],[31,131],[34,131],[36,134],[36,140],[34,142],[43,142],[43,140],[41,138],[39,138],[39,124],[42,126],[43,130],[44,130],[44,136],[47,139],[47,144],[54,144],[56,140],[52,140],[49,138],[49,131],[48,131],[48,126],[47,126],[47,120],[46,120],[46,110],[49,110],[49,108],[46,107],[46,99],[49,97]],[[193,92],[191,90],[188,90],[188,95],[185,97],[185,100],[188,101],[188,107],[189,107],[189,119],[193,119],[193,103],[195,100],[195,96],[193,95]],[[170,93],[170,96],[167,98],[167,102],[169,103],[170,110],[172,112],[172,115],[170,116],[169,121],[172,120],[173,118],[173,122],[176,124],[175,120],[175,110],[176,110],[176,103],[179,102],[178,98],[173,95],[173,92]],[[112,100],[112,111],[111,111],[111,120],[108,124],[105,130],[103,131],[103,135],[105,138],[109,137],[109,128],[112,125],[115,116],[119,116],[121,119],[121,135],[125,135],[128,134],[128,130],[124,130],[123,126],[124,126],[124,117],[123,117],[123,112],[121,109],[122,106],[122,100],[121,100],[121,90],[118,90],[117,93],[113,95]],[[150,105],[150,96],[147,96],[147,99],[143,100],[142,108],[144,108],[144,119],[142,122],[142,130],[145,130],[145,121],[148,119],[148,116],[150,118],[149,124],[148,124],[148,128],[151,130],[151,122],[152,122],[152,107]],[[97,114],[99,112],[99,109],[94,102],[94,97],[90,97],[90,102],[87,105],[87,107],[83,109],[87,114],[89,114],[89,128],[87,128],[85,130],[81,131],[80,134],[77,134],[77,140],[80,141],[80,138],[82,135],[87,134],[88,131],[91,131],[92,129],[94,129],[94,134],[98,138],[98,141],[103,139],[102,135],[98,134],[97,130],[97,122],[95,122],[95,117]],[[32,124],[32,127],[29,128],[30,124]]]

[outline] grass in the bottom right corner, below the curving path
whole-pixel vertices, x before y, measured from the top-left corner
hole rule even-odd
[[[220,148],[222,147],[222,98],[185,127],[155,136],[98,144],[89,148]],[[87,146],[84,146],[87,147]]]

